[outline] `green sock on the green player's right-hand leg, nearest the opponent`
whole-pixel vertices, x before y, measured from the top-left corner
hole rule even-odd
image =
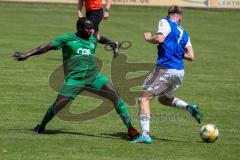
[[[131,118],[128,114],[128,109],[124,101],[119,98],[117,104],[115,105],[115,110],[121,117],[123,123],[127,128],[132,128]]]

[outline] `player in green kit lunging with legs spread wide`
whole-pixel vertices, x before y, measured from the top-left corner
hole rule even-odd
[[[90,91],[108,98],[114,104],[116,112],[128,128],[129,139],[138,135],[138,131],[131,124],[125,102],[120,98],[108,78],[101,74],[95,66],[97,39],[93,37],[93,33],[92,22],[84,17],[79,18],[77,21],[77,33],[64,34],[31,51],[16,52],[14,54],[16,60],[22,61],[30,56],[39,55],[50,50],[62,49],[65,83],[59,90],[56,101],[49,106],[41,123],[33,129],[34,133],[42,133],[46,124],[61,109],[74,100],[83,89],[90,88]]]

